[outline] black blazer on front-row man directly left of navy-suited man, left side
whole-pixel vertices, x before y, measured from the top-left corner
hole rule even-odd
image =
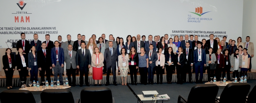
[[[51,50],[45,50],[46,56],[44,56],[44,51],[42,49],[37,52],[38,68],[52,67]]]

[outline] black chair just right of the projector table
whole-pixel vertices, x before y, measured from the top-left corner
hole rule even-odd
[[[191,88],[188,99],[179,95],[178,103],[215,103],[218,90],[219,87],[215,84],[197,84]]]

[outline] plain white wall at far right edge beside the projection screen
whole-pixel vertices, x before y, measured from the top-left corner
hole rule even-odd
[[[243,35],[242,41],[245,42],[246,36],[250,36],[250,41],[256,45],[256,0],[244,0],[243,9]],[[239,14],[237,14],[239,15]],[[255,52],[254,52],[255,53]],[[256,70],[255,57],[252,58],[252,69]]]

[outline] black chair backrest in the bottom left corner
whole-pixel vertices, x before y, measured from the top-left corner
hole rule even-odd
[[[20,103],[28,99],[29,103],[36,103],[33,94],[28,90],[4,90],[0,93],[1,103]]]

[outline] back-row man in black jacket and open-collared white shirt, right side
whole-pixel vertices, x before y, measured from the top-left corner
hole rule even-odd
[[[218,49],[218,42],[217,40],[213,39],[214,35],[210,34],[210,39],[206,40],[206,44],[208,45],[208,48],[212,47],[213,51],[212,53],[217,53],[217,49]]]

